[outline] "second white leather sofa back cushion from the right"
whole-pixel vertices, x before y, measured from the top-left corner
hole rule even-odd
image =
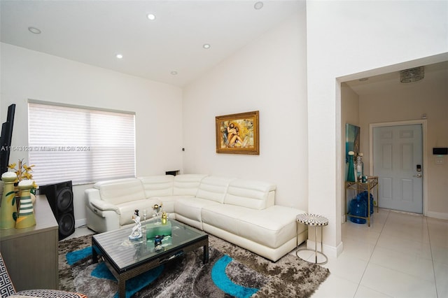
[[[223,203],[225,192],[227,192],[232,180],[235,180],[235,178],[207,176],[201,180],[196,197]]]

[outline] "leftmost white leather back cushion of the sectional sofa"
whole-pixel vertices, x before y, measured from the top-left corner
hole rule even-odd
[[[146,197],[143,185],[137,178],[96,183],[94,187],[99,189],[103,201],[116,205]]]

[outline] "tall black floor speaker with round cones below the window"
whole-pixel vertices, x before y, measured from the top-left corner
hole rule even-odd
[[[51,210],[59,225],[59,240],[75,232],[75,215],[73,213],[73,189],[71,181],[44,185],[39,193],[45,194]]]

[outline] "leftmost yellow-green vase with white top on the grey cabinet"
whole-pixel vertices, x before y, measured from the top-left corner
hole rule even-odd
[[[17,175],[12,172],[6,172],[1,176],[1,180],[3,180],[4,186],[3,194],[1,195],[0,229],[11,229],[15,227],[15,219],[17,218],[14,187]]]

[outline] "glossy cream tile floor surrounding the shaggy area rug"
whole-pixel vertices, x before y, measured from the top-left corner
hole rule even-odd
[[[67,239],[92,233],[81,227]],[[323,265],[331,274],[312,298],[448,298],[448,220],[380,209],[370,227],[342,224],[342,241],[344,251]]]

